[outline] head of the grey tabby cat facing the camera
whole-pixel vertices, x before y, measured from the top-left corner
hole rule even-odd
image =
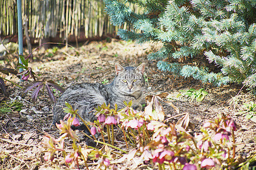
[[[145,63],[138,67],[122,67],[115,63],[115,73],[117,76],[114,80],[114,86],[119,92],[126,94],[133,94],[137,91],[143,91],[145,80],[143,73],[145,70]]]

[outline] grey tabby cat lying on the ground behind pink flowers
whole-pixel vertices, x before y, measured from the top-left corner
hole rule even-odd
[[[90,122],[96,120],[93,109],[104,103],[110,104],[110,108],[114,108],[114,104],[117,104],[118,109],[121,109],[125,107],[123,101],[128,103],[132,100],[132,107],[141,110],[140,102],[145,86],[144,69],[145,63],[136,68],[130,66],[123,68],[115,63],[116,76],[112,83],[106,85],[80,83],[68,87],[53,107],[53,124],[59,124],[67,114],[63,111],[65,101],[72,105],[73,109],[78,109],[77,113],[84,120]]]

